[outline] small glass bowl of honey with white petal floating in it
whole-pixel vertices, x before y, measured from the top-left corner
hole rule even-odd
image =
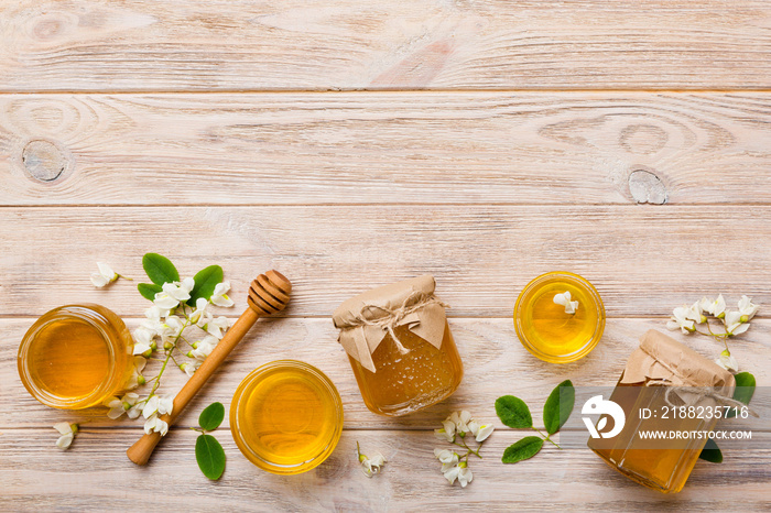
[[[565,298],[571,305],[564,304]],[[599,342],[605,330],[605,306],[584,277],[551,272],[531,281],[520,293],[514,328],[522,346],[541,360],[568,363],[584,358]]]

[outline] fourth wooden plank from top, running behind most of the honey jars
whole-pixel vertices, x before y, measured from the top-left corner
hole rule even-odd
[[[0,320],[0,428],[44,427],[56,422],[88,422],[91,427],[115,427],[104,408],[82,412],[62,412],[37,403],[30,396],[18,378],[15,356],[19,341],[32,324],[31,319]],[[130,319],[129,326],[138,320]],[[306,361],[325,372],[337,386],[344,403],[345,427],[432,429],[439,426],[450,411],[468,410],[478,418],[493,422],[497,397],[513,394],[522,397],[532,408],[533,418],[541,422],[542,407],[552,389],[569,379],[576,386],[612,386],[621,375],[638,338],[648,329],[664,328],[664,319],[609,319],[599,346],[585,359],[569,364],[545,363],[531,356],[520,345],[513,323],[503,319],[450,319],[450,328],[465,365],[464,381],[458,391],[436,406],[400,417],[388,418],[370,413],[359,394],[354,373],[341,347],[337,330],[329,319],[270,319],[252,329],[242,345],[228,358],[214,381],[191,403],[180,418],[181,428],[195,426],[198,414],[208,404],[219,401],[229,410],[238,383],[253,369],[273,360]],[[771,382],[770,320],[756,320],[750,330],[731,342],[732,354],[742,370],[756,375],[759,386]],[[670,332],[670,331],[667,331]],[[686,337],[670,332],[707,358],[716,358],[723,347],[706,337]],[[148,367],[152,378],[158,364]],[[164,393],[175,394],[186,375],[176,369],[164,374]],[[141,428],[141,422],[123,418],[117,425]],[[224,425],[228,425],[226,419]]]

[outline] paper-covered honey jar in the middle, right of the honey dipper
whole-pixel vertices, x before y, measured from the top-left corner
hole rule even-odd
[[[361,397],[380,415],[404,415],[448,397],[463,378],[445,306],[431,275],[360,294],[333,314]]]

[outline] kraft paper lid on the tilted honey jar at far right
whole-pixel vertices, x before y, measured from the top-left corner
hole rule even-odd
[[[621,376],[621,383],[626,384],[650,381],[673,386],[720,388],[723,393],[736,383],[734,375],[717,363],[654,329],[640,338],[640,347],[629,357]]]

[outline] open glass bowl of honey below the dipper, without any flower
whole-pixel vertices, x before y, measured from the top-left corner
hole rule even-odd
[[[343,401],[322,371],[295,360],[247,375],[230,403],[230,429],[243,456],[276,474],[313,469],[343,433]]]

